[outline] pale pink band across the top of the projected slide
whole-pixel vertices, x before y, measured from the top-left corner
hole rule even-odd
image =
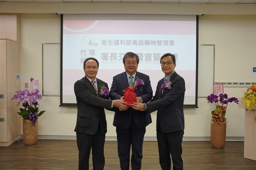
[[[195,21],[139,21],[139,20],[63,21],[63,34],[181,34],[195,35]],[[92,26],[90,29],[86,28]],[[75,32],[77,30],[85,30]]]

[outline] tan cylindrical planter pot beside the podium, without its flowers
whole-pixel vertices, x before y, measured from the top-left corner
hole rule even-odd
[[[224,148],[226,143],[227,122],[211,121],[211,145],[214,148]]]

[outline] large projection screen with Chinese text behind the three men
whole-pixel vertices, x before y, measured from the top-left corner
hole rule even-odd
[[[87,57],[99,61],[97,78],[110,88],[113,76],[125,71],[123,57],[131,51],[154,93],[164,77],[160,57],[174,54],[175,71],[186,83],[184,107],[197,107],[197,16],[64,14],[61,19],[60,106],[76,106],[74,83],[85,76]]]

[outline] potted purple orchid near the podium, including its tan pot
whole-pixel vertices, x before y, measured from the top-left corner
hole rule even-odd
[[[208,103],[215,103],[211,120],[211,145],[214,148],[223,148],[226,143],[227,119],[225,115],[227,106],[233,101],[238,104],[238,100],[235,97],[228,98],[226,93],[221,93],[219,96],[211,94],[206,100]]]

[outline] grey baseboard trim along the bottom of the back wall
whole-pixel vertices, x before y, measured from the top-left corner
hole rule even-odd
[[[20,136],[23,138],[23,135]],[[38,139],[55,139],[55,140],[76,140],[76,136],[55,136],[55,135],[38,135]],[[210,141],[210,137],[183,137],[183,141]],[[106,137],[106,141],[116,141],[116,137]],[[144,141],[157,141],[156,137],[144,137]],[[244,137],[226,137],[226,141],[244,141]]]

